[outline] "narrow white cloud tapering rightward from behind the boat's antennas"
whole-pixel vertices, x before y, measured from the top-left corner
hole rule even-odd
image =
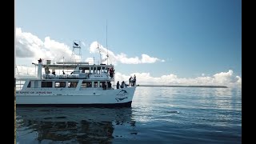
[[[98,49],[99,47],[99,49]],[[102,63],[106,63],[106,55],[109,55],[109,62],[113,64],[125,63],[125,64],[139,64],[139,63],[154,63],[154,62],[165,62],[159,58],[150,57],[147,54],[142,54],[141,58],[134,57],[128,58],[126,54],[114,54],[111,50],[107,50],[105,47],[100,45],[98,42],[92,42],[90,44],[90,53],[98,53],[100,51],[102,57]]]

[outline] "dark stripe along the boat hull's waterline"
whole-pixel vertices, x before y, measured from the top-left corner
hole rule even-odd
[[[115,103],[115,104],[16,104],[17,107],[30,106],[30,107],[39,107],[39,106],[55,106],[55,107],[130,107],[130,102],[125,103]]]

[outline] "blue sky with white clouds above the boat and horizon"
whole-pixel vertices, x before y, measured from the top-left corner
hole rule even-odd
[[[242,84],[241,0],[16,0],[15,34],[18,74],[72,58],[75,41],[82,61],[114,64],[119,81]]]

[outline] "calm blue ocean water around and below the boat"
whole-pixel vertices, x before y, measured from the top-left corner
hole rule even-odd
[[[138,86],[130,108],[18,107],[17,143],[242,143],[242,90]]]

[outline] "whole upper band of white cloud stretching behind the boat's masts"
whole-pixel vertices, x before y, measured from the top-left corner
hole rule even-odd
[[[82,42],[82,46],[86,46],[85,42]],[[99,47],[99,48],[98,48]],[[150,57],[147,54],[142,54],[141,58],[134,57],[128,58],[126,54],[114,54],[111,50],[107,50],[98,42],[92,42],[90,44],[90,54],[101,54],[102,63],[107,63],[106,55],[109,55],[108,61],[113,64],[125,63],[125,64],[140,64],[140,63],[154,63],[165,62],[159,58]],[[38,58],[51,59],[54,61],[62,62],[63,57],[65,60],[72,59],[72,50],[70,46],[62,42],[56,42],[50,37],[46,37],[43,41],[36,35],[23,32],[21,28],[16,28],[16,57],[17,58],[33,58],[34,62],[37,62]],[[74,55],[76,61],[80,61],[78,55]],[[93,63],[93,58],[87,58],[86,62]]]

